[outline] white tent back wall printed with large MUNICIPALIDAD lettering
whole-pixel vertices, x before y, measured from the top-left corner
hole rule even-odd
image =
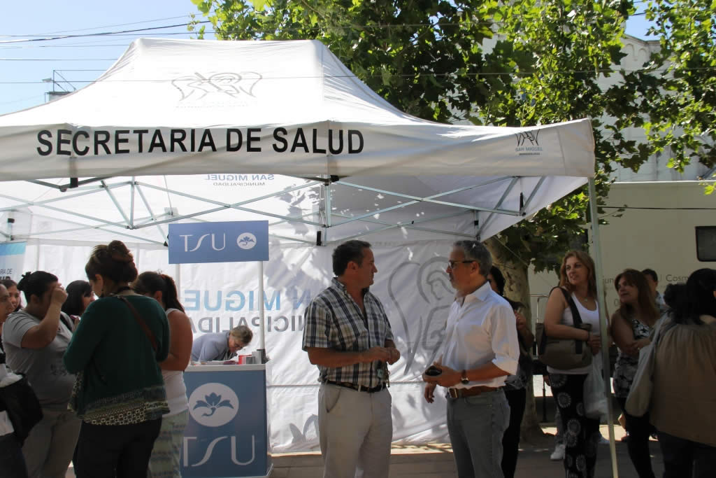
[[[448,441],[445,398],[438,397],[432,404],[425,402],[420,376],[435,359],[453,300],[454,291],[445,274],[451,244],[450,240],[373,243],[378,272],[371,290],[387,311],[402,354],[390,366],[393,440],[397,442]],[[258,344],[258,301],[263,300],[266,350],[271,359],[272,448],[276,452],[318,449],[318,369],[301,350],[301,339],[306,306],[333,277],[332,248],[272,243],[271,258],[264,263],[265,290],[261,299],[258,264],[170,265],[167,249],[127,246],[135,253],[140,272],[162,270],[175,278],[195,338],[248,325],[255,338],[242,353],[249,353]],[[28,249],[25,269],[47,270],[63,283],[84,279],[82,269],[89,256],[89,244],[44,242]]]

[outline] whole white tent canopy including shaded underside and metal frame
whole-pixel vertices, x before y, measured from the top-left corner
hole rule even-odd
[[[162,252],[171,221],[269,219],[272,247],[487,239],[594,161],[589,120],[414,118],[318,41],[139,39],[82,90],[0,116],[0,241],[39,266],[43,244]]]

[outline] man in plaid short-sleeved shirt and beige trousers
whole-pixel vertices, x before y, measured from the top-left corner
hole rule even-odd
[[[388,478],[393,424],[387,363],[395,363],[390,322],[368,291],[378,272],[370,244],[333,252],[331,285],[306,308],[303,349],[318,365],[319,439],[324,478]]]

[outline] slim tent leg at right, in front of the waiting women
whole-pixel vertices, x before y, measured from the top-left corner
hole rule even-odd
[[[604,296],[604,272],[601,269],[601,243],[599,242],[599,216],[596,211],[596,186],[594,178],[589,178],[589,212],[591,213],[591,237],[594,256],[594,273],[596,274],[596,298],[599,302],[599,333],[601,335],[601,358],[604,373],[604,394],[606,395],[606,418],[609,426],[609,455],[611,458],[611,476],[619,478],[616,467],[616,444],[614,443],[614,408],[611,400],[611,383],[609,383],[609,336],[607,333],[606,299]]]

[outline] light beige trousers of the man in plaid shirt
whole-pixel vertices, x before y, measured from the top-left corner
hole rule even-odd
[[[321,383],[318,426],[324,478],[388,478],[391,404],[387,389],[365,393]]]

